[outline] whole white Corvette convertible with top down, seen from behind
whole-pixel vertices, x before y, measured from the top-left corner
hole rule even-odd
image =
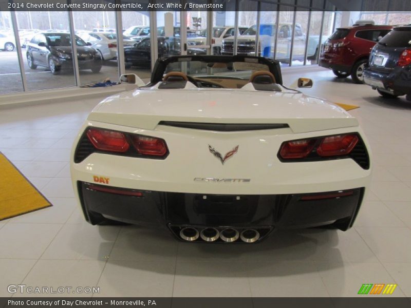
[[[371,172],[364,133],[339,106],[283,86],[278,62],[173,56],[157,61],[147,85],[122,79],[133,89],[97,105],[72,149],[91,224],[226,243],[352,226]]]

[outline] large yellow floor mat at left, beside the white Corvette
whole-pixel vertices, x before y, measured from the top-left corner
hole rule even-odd
[[[2,152],[0,175],[0,220],[51,206]]]

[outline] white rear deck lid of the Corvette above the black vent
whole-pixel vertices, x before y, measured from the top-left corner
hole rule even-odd
[[[341,107],[300,92],[137,89],[113,95],[88,120],[154,130],[160,121],[288,124],[293,132],[358,126]]]

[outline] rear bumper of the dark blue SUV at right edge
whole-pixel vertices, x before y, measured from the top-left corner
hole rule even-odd
[[[364,82],[375,89],[396,95],[411,93],[411,66],[397,67],[389,73],[365,68]]]

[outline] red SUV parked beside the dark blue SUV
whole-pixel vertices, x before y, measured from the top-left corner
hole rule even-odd
[[[337,28],[324,44],[319,65],[332,69],[339,78],[351,75],[355,83],[362,84],[372,47],[392,29],[375,25]]]

